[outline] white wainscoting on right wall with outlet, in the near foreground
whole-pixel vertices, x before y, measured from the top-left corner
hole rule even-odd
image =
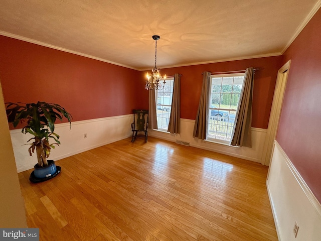
[[[279,241],[321,240],[321,205],[276,141],[266,185]]]

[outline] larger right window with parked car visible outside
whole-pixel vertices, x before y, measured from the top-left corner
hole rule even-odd
[[[230,144],[244,73],[211,75],[207,140]]]

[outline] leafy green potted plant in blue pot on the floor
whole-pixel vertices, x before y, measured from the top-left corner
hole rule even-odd
[[[59,135],[54,133],[57,119],[68,119],[71,128],[71,114],[59,104],[40,102],[37,103],[6,103],[8,122],[16,128],[20,123],[23,125],[22,133],[30,133],[34,137],[29,147],[29,154],[37,154],[38,163],[30,175],[30,181],[41,182],[55,177],[61,168],[55,165],[53,160],[47,160],[51,148],[60,144]],[[49,140],[54,141],[50,144]],[[27,145],[27,144],[26,144]]]

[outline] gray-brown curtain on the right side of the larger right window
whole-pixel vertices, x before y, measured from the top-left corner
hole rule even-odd
[[[252,98],[254,85],[253,67],[247,68],[240,96],[239,108],[236,111],[235,127],[232,133],[231,146],[252,147]]]

